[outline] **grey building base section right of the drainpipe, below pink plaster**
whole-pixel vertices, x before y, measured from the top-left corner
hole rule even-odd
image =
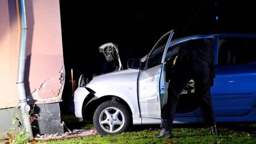
[[[33,106],[31,109],[33,109]],[[35,126],[32,127],[33,135],[64,133],[60,119],[59,103],[36,104],[34,106],[34,114],[40,114],[40,117],[31,123],[32,126]]]

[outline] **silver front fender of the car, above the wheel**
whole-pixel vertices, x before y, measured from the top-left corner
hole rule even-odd
[[[127,102],[132,114],[139,114],[137,80],[139,69],[127,69],[94,77],[87,88],[98,98],[116,96]]]

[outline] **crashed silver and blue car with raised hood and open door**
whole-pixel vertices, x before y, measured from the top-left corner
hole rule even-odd
[[[171,65],[181,45],[190,39],[210,39],[216,78],[211,87],[217,122],[256,121],[256,35],[194,35],[172,40],[173,30],[163,35],[149,54],[131,59],[123,68],[116,44],[99,47],[115,71],[88,80],[80,76],[75,91],[75,115],[91,119],[101,134],[119,134],[131,125],[160,124],[167,102]],[[191,80],[182,91],[174,123],[203,122]]]

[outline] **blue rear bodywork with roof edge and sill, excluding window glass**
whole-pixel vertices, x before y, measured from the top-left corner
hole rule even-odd
[[[211,87],[211,96],[217,122],[255,122],[256,62],[218,65],[218,39],[220,37],[256,38],[256,35],[197,35],[177,39],[173,43],[205,36],[214,38],[213,53],[216,78],[214,79],[214,86]],[[188,123],[204,121],[200,107],[193,112],[175,114],[174,120]]]

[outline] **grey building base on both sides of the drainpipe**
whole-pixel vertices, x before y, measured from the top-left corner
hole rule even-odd
[[[55,134],[64,133],[63,124],[60,119],[60,105],[59,103],[52,104],[36,104],[31,105],[34,109],[33,114],[39,114],[38,120],[33,120],[31,123],[33,135],[36,134]],[[13,114],[11,114],[13,111]],[[22,122],[21,110],[19,108],[0,109],[0,140],[8,138],[7,133],[12,133],[11,117],[19,113],[19,121]],[[31,114],[31,116],[34,116]]]

